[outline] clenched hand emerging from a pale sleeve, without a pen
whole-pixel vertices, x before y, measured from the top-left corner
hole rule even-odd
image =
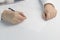
[[[53,19],[57,15],[57,11],[53,4],[46,3],[44,5],[44,13],[42,14],[42,17],[44,20],[50,20]]]

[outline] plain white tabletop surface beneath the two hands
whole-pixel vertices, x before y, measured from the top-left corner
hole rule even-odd
[[[39,0],[25,0],[0,6],[0,18],[2,11],[9,7],[24,12],[27,17],[18,25],[6,25],[0,21],[0,40],[60,40],[60,1],[54,0],[54,5],[57,16],[49,21],[41,18]]]

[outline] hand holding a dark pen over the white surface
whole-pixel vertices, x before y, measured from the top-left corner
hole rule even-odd
[[[26,16],[23,12],[4,10],[1,19],[4,22],[8,22],[10,24],[18,24],[23,22],[26,19]]]

